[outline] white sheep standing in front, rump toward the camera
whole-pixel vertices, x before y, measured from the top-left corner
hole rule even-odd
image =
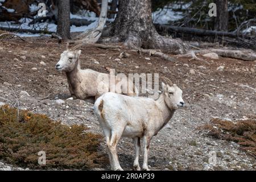
[[[140,140],[144,142],[143,169],[147,166],[150,140],[167,124],[179,107],[184,106],[182,91],[176,85],[162,83],[163,92],[157,100],[105,93],[99,97],[94,110],[106,137],[112,170],[122,170],[117,156],[121,137],[133,138],[135,147],[134,170],[139,167]]]

